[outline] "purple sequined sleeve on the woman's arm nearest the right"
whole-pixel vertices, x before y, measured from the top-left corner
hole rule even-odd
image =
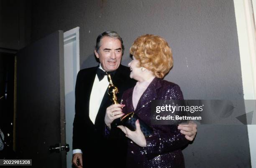
[[[168,90],[163,90],[162,100],[183,100],[182,91],[178,85]],[[162,153],[171,152],[188,144],[188,140],[178,130],[178,125],[153,125],[153,134],[146,137],[146,153],[154,157]]]

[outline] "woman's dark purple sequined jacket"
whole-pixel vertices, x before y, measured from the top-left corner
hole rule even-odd
[[[132,103],[133,88],[123,93],[125,107],[123,112],[134,111]],[[154,78],[142,94],[134,113],[153,128],[153,134],[146,137],[147,147],[142,148],[128,138],[126,166],[128,168],[184,168],[181,148],[188,140],[177,129],[177,125],[151,125],[152,100],[183,100],[179,86]]]

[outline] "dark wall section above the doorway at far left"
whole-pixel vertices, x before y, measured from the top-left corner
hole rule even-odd
[[[19,50],[30,35],[31,0],[0,0],[0,48]]]

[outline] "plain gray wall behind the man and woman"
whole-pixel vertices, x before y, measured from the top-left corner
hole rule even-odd
[[[97,65],[98,34],[123,37],[123,65],[139,35],[164,37],[174,68],[166,80],[180,85],[185,99],[243,100],[233,0],[44,0],[32,2],[31,39],[80,27],[81,68]],[[199,125],[184,151],[187,167],[250,167],[247,127]]]

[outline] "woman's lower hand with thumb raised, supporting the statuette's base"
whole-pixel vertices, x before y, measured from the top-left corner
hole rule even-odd
[[[135,131],[131,131],[127,127],[124,127],[123,125],[119,125],[118,128],[120,128],[128,138],[133,140],[134,143],[136,143],[141,147],[146,147],[147,146],[146,138],[141,131],[141,126],[138,120],[136,121],[135,125],[136,125]]]

